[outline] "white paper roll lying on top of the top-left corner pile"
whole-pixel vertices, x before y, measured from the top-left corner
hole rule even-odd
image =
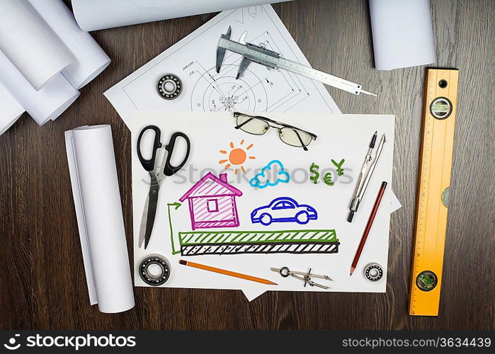
[[[74,60],[27,0],[1,0],[0,50],[35,90]]]

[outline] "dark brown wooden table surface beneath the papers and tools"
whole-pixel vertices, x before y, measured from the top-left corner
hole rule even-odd
[[[433,0],[438,67],[460,69],[451,207],[440,315],[407,314],[424,67],[374,69],[368,1],[273,6],[310,63],[377,98],[329,88],[343,113],[394,114],[387,292],[266,292],[135,288],[136,306],[89,306],[64,131],[110,124],[132,259],[130,132],[103,96],[110,86],[215,16],[100,30],[113,62],[55,122],[28,115],[0,136],[0,329],[495,329],[495,1]],[[433,66],[433,65],[432,65]],[[1,109],[1,108],[0,108]]]

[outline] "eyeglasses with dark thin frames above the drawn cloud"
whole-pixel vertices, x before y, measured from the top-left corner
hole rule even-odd
[[[317,139],[317,136],[312,132],[299,129],[292,125],[285,124],[283,122],[277,122],[261,115],[247,115],[244,113],[234,112],[234,118],[237,120],[236,129],[240,129],[246,133],[252,135],[263,135],[268,132],[270,127],[278,129],[278,137],[285,144],[291,147],[302,147],[307,151],[307,146],[313,140]]]

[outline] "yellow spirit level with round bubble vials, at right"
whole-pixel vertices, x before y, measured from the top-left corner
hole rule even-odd
[[[409,314],[438,316],[457,108],[457,69],[426,69]]]

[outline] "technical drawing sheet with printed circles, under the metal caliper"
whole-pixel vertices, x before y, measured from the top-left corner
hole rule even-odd
[[[251,64],[236,79],[242,57],[232,52],[217,74],[217,45],[229,26],[232,40],[247,31],[247,42],[309,65],[271,5],[223,11],[105,92],[127,127],[140,111],[341,113],[325,86],[304,76]],[[181,94],[173,101],[157,93],[164,74],[182,81]]]

